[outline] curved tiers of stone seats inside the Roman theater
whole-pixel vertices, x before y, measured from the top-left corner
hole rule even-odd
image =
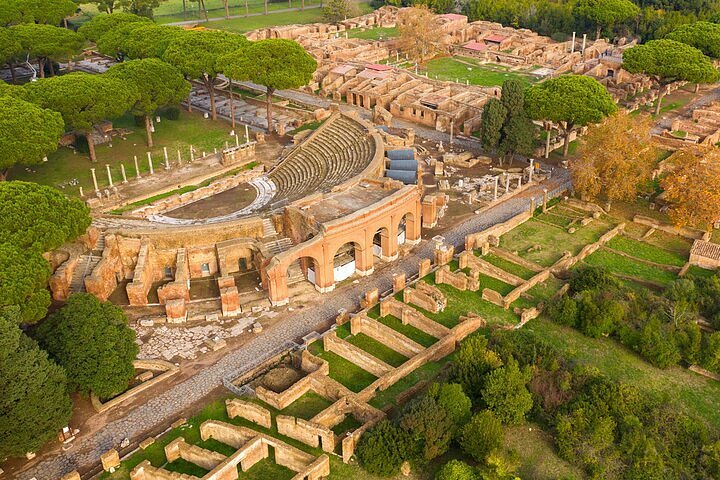
[[[335,114],[268,173],[277,187],[275,199],[292,202],[329,192],[361,174],[372,162],[375,149],[366,125]]]

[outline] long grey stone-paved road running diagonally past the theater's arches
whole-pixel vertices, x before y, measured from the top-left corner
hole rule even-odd
[[[452,227],[444,234],[446,243],[454,245],[456,252],[459,252],[464,248],[467,234],[508,220],[529,208],[531,198],[535,200],[536,205],[539,205],[543,188],[549,190],[550,196],[555,196],[568,187],[567,173],[556,169],[550,181],[535,185],[517,197],[510,198]],[[217,363],[200,370],[182,383],[168,388],[147,403],[132,409],[123,418],[109,422],[89,436],[81,437],[71,450],[53,457],[49,455],[39,457],[36,463],[19,473],[17,478],[56,480],[72,470],[87,471],[99,462],[102,453],[111,448],[118,448],[123,439],[129,438],[137,442],[143,439],[146,432],[176,420],[185,409],[220,387],[223,378],[227,377],[229,372],[247,371],[267,358],[268,352],[277,350],[286,342],[295,341],[313,331],[324,329],[337,316],[339,309],[357,310],[359,299],[364,292],[376,287],[381,292],[390,289],[393,273],[404,272],[408,276],[415,275],[418,271],[418,262],[432,256],[433,242],[422,243],[412,254],[392,268],[384,269],[377,275],[361,279],[358,284],[326,295],[323,302],[317,306],[297,311],[288,320],[268,328],[247,344],[228,352]]]

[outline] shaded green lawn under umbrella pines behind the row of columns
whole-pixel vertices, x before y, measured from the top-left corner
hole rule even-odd
[[[125,165],[128,178],[135,177],[133,156],[138,157],[141,174],[149,172],[147,162],[148,148],[145,143],[145,128],[136,127],[133,118],[129,115],[115,119],[115,128],[127,128],[132,133],[125,140],[121,137],[113,139],[112,147],[99,145],[96,147],[97,163],[92,163],[87,154],[73,153],[69,148],[61,148],[48,157],[48,162],[29,167],[16,166],[10,171],[10,180],[25,180],[52,185],[60,188],[64,193],[79,196],[78,186],[82,186],[85,195],[91,195],[94,187],[91,168],[95,168],[100,188],[109,185],[105,164],[110,165],[113,180],[122,181],[120,164]],[[170,161],[177,164],[177,151],[180,150],[184,161],[190,160],[190,145],[195,148],[197,156],[203,151],[212,152],[214,148],[222,148],[230,137],[230,125],[224,121],[206,120],[200,113],[181,111],[178,120],[166,120],[156,125],[153,135],[155,147],[151,150],[155,169],[161,170],[163,160],[163,147],[167,147]],[[77,179],[79,185],[70,186],[69,182]]]

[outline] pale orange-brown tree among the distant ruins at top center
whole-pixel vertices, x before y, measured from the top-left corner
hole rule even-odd
[[[443,33],[435,21],[435,14],[427,6],[402,9],[397,23],[400,32],[398,46],[411,59],[422,63],[441,50]]]

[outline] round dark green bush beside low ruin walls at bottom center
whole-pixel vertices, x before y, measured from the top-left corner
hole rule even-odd
[[[369,473],[390,477],[400,471],[411,443],[405,430],[382,420],[360,437],[356,452],[360,465]]]

